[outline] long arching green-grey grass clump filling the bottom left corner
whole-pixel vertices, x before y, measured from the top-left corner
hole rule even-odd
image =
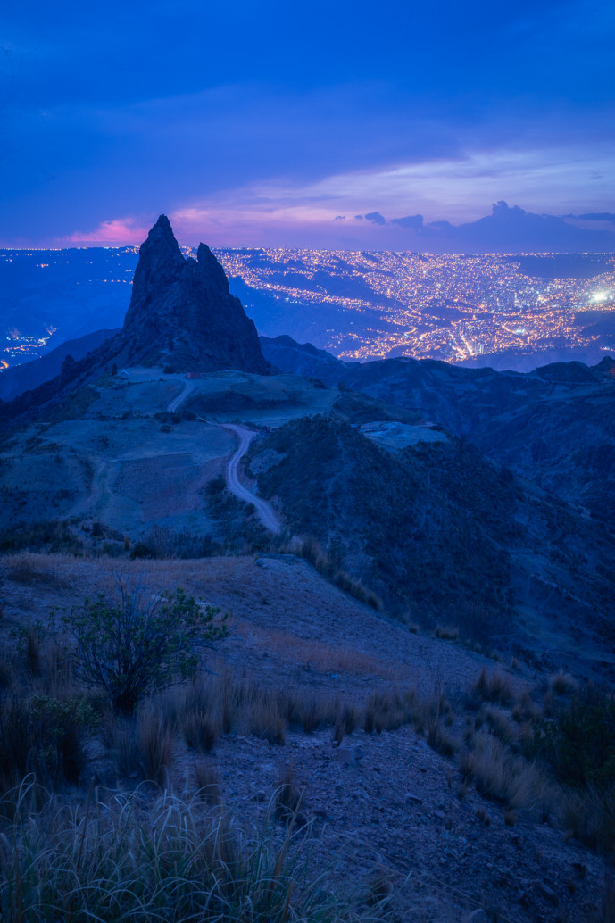
[[[220,809],[200,797],[137,791],[73,809],[52,800],[27,809],[31,786],[15,795],[16,820],[0,838],[3,919],[225,920],[226,923],[343,923],[375,917],[357,899],[333,899],[291,831],[274,845],[262,833],[235,836]],[[291,905],[292,898],[292,905]]]

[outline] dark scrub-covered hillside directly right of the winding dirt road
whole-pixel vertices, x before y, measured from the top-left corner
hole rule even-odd
[[[398,617],[450,622],[468,640],[497,638],[538,659],[555,648],[579,666],[588,654],[611,670],[612,541],[469,444],[393,453],[316,417],[259,440],[249,457],[291,531],[314,536]]]

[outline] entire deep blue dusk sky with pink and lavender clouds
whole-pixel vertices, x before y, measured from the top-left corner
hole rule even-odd
[[[0,246],[615,250],[610,0],[0,13]]]

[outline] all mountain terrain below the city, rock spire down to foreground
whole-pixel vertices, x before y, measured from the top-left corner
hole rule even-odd
[[[185,260],[163,217],[135,283],[115,340],[0,407],[0,548],[66,553],[0,558],[0,871],[33,879],[15,872],[10,789],[34,773],[75,810],[29,791],[28,836],[49,824],[64,848],[61,815],[69,847],[82,831],[53,901],[98,848],[93,779],[106,830],[114,799],[139,802],[141,845],[175,797],[182,824],[214,816],[223,844],[290,830],[319,888],[356,885],[360,919],[604,923],[613,364],[343,366],[284,339],[272,374],[211,251]],[[148,613],[184,600],[216,631],[187,651],[167,621],[132,645],[131,593]],[[101,635],[117,617],[128,641],[111,669]],[[174,635],[175,660],[157,663]],[[118,711],[108,677],[146,648]],[[165,880],[187,858],[168,855],[153,863]],[[292,879],[274,917],[280,868],[257,891],[286,923],[305,892]]]

